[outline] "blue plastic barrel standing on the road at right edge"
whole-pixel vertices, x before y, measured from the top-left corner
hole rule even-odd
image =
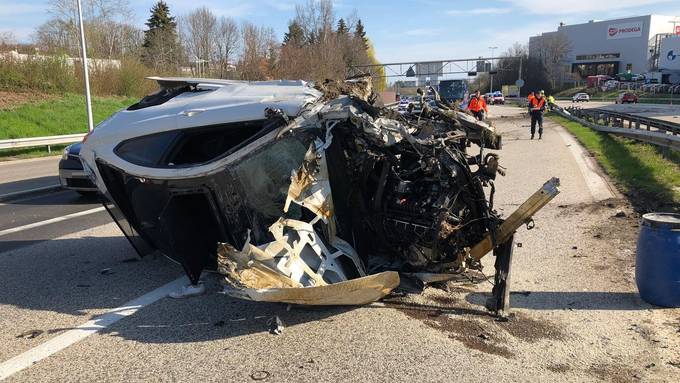
[[[645,301],[680,307],[680,214],[642,216],[635,281]]]

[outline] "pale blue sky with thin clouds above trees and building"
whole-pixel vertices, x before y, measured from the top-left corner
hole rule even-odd
[[[74,0],[75,1],[75,0]],[[200,6],[237,21],[273,27],[282,38],[295,4],[307,0],[166,0],[175,16]],[[155,0],[130,0],[143,27]],[[515,42],[578,24],[628,16],[680,16],[679,0],[334,0],[336,17],[356,10],[378,59],[383,63],[488,56]],[[11,31],[29,42],[35,28],[50,18],[49,0],[0,0],[0,32]],[[669,25],[669,29],[672,26]]]

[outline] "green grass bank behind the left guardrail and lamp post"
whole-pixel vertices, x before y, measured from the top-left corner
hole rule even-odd
[[[135,101],[121,97],[94,98],[92,113],[95,125]],[[66,94],[57,99],[0,110],[0,140],[85,132],[87,112],[84,96]]]

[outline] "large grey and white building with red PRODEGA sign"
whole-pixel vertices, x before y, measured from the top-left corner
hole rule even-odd
[[[561,59],[564,76],[560,82],[621,72],[647,73],[659,69],[661,42],[675,33],[680,34],[680,17],[673,16],[560,24],[557,31],[529,39],[529,56],[545,59],[551,46],[559,46],[560,41],[568,46]]]

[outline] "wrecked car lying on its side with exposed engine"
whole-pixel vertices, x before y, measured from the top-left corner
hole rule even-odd
[[[490,308],[507,309],[512,234],[559,190],[550,180],[499,217],[492,126],[436,97],[417,113],[382,107],[370,77],[151,79],[160,90],[81,149],[140,256],[162,252],[192,283],[217,270],[239,298],[335,305],[481,269],[494,251]]]

